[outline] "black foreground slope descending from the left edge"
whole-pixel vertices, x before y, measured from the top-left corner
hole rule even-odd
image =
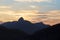
[[[27,34],[21,30],[7,29],[0,25],[0,40],[26,40]]]

